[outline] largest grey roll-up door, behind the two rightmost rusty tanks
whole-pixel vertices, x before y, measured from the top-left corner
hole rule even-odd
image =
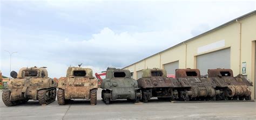
[[[230,68],[230,48],[197,56],[197,68],[201,75],[208,69]]]

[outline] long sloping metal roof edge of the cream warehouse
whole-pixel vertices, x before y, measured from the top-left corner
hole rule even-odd
[[[209,30],[209,31],[206,31],[206,32],[204,32],[204,33],[201,33],[201,34],[199,34],[199,35],[196,36],[196,37],[193,37],[193,38],[190,38],[190,39],[188,39],[188,40],[185,40],[185,41],[183,41],[183,42],[181,42],[181,43],[179,43],[179,44],[177,44],[177,45],[174,45],[174,46],[172,46],[172,47],[169,47],[169,48],[167,48],[167,49],[164,50],[164,51],[161,51],[161,52],[158,52],[158,53],[156,53],[156,54],[153,54],[153,55],[151,55],[151,56],[149,56],[149,57],[147,57],[147,58],[144,58],[144,59],[142,59],[142,60],[140,60],[140,61],[146,60],[146,59],[148,59],[148,58],[150,58],[150,57],[153,57],[154,55],[157,55],[157,54],[163,53],[163,52],[165,52],[165,51],[168,51],[168,50],[170,50],[170,49],[172,49],[172,48],[174,48],[174,47],[177,47],[177,46],[179,46],[179,45],[182,45],[182,44],[184,44],[184,43],[187,43],[188,41],[191,41],[191,40],[194,40],[194,39],[196,39],[196,38],[199,38],[199,37],[201,37],[201,36],[203,36],[203,35],[205,35],[205,34],[207,34],[207,33],[210,33],[210,32],[213,32],[213,31],[215,31],[215,30],[218,30],[218,29],[220,29],[220,28],[222,28],[222,27],[224,27],[224,26],[227,26],[227,25],[229,25],[229,24],[231,24],[231,23],[233,23],[233,22],[236,22],[237,20],[246,18],[246,17],[251,16],[251,15],[253,15],[253,14],[255,14],[255,13],[256,13],[256,10],[254,10],[254,11],[252,11],[252,12],[249,12],[249,13],[243,15],[243,16],[240,16],[240,17],[238,17],[238,18],[235,18],[235,19],[231,20],[230,22],[224,23],[224,24],[222,24],[222,25],[220,25],[220,26],[218,26],[218,27],[215,27],[214,29],[211,29],[211,30]],[[140,61],[138,61],[138,62],[140,62]],[[136,63],[138,63],[138,62],[134,62],[134,63],[132,63],[132,64],[129,65],[129,66],[132,66],[132,65],[134,65],[134,64],[136,64]],[[129,67],[129,66],[126,66],[126,67]],[[124,68],[126,68],[126,67],[124,67]],[[124,69],[124,68],[122,68],[122,69]]]

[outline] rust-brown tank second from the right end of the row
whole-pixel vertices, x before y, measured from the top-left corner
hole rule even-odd
[[[176,69],[176,77],[181,84],[186,81],[187,91],[180,92],[179,96],[185,101],[188,100],[216,100],[220,90],[214,89],[212,84],[205,77],[200,76],[199,69]]]

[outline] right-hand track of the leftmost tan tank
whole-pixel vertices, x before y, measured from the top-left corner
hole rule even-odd
[[[47,96],[46,93],[49,92],[50,96]],[[50,104],[56,100],[56,88],[42,89],[37,92],[37,98],[39,104]]]

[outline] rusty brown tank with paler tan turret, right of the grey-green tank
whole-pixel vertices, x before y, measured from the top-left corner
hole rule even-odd
[[[174,84],[171,78],[167,77],[164,69],[143,69],[142,77],[137,81],[139,88],[142,88],[143,102],[147,102],[152,97],[157,97],[159,100],[171,100],[173,96],[178,95],[177,91],[172,90],[174,87],[179,87],[178,84]]]

